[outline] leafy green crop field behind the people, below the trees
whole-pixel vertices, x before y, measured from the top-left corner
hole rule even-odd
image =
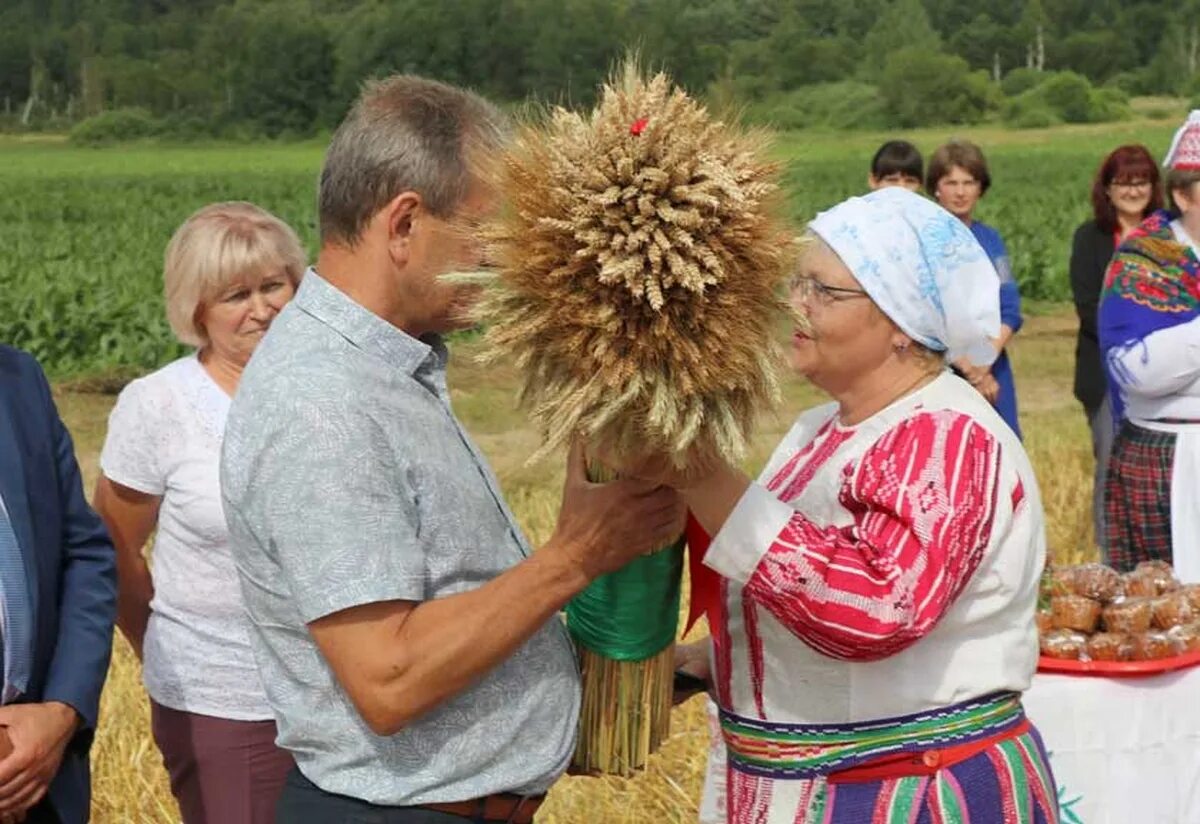
[[[1066,300],[1070,233],[1087,215],[1090,179],[1120,143],[1159,155],[1172,125],[1012,132],[962,130],[992,167],[979,217],[1004,236],[1027,299]],[[907,134],[926,152],[949,131]],[[864,187],[888,134],[780,136],[797,227]],[[214,200],[252,200],[314,251],[323,146],[77,149],[0,140],[0,341],[32,351],[54,377],[149,369],[180,353],[163,319],[162,252],[172,231]]]

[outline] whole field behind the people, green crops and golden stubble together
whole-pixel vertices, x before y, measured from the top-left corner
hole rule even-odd
[[[1088,210],[1087,186],[1100,157],[1130,140],[1165,149],[1170,126],[1122,124],[1040,132],[967,131],[988,152],[994,188],[979,217],[1003,234],[1030,300],[1012,347],[1026,446],[1038,471],[1052,552],[1091,553],[1091,453],[1072,398],[1075,320],[1066,267],[1070,233]],[[889,136],[784,136],[787,196],[799,222],[860,191],[866,162]],[[931,150],[947,132],[908,136]],[[0,143],[0,341],[34,351],[56,397],[89,489],[104,437],[112,390],[181,350],[162,313],[162,251],[190,212],[221,199],[253,200],[290,222],[314,246],[313,200],[319,145],[120,148],[77,150],[50,143]],[[455,349],[450,383],[456,411],[491,459],[523,528],[545,540],[558,506],[558,462],[526,465],[538,433],[514,409],[515,377],[482,368],[473,342]],[[799,380],[757,433],[756,470],[791,419],[817,402]],[[149,735],[138,664],[118,638],[92,751],[94,811],[100,824],[178,820],[166,772]],[[565,778],[539,816],[542,824],[692,822],[707,730],[698,699],[679,708],[671,740],[632,780]]]

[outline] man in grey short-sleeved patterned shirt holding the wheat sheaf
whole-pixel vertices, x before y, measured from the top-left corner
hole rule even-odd
[[[578,674],[558,612],[678,533],[673,492],[592,485],[568,461],[532,553],[450,408],[439,333],[479,265],[500,118],[451,86],[368,86],[320,176],[316,270],[229,411],[222,495],[281,746],[278,819],[528,822],[575,742]]]

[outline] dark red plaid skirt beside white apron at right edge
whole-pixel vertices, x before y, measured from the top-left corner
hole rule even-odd
[[[1109,563],[1121,572],[1141,561],[1171,561],[1174,463],[1174,433],[1121,423],[1104,483]]]

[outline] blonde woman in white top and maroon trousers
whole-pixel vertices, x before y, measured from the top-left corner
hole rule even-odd
[[[118,626],[143,661],[151,724],[186,824],[265,824],[292,758],[258,678],[217,482],[229,401],[292,299],[295,233],[248,203],[192,215],[167,247],[167,318],[192,355],[121,392],[96,510],[118,553]],[[154,573],[142,547],[157,529]]]

